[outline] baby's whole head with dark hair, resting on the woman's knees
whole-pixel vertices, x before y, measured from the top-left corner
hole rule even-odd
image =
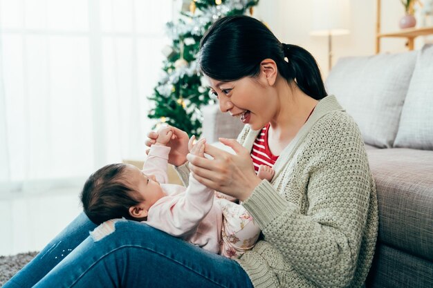
[[[165,193],[154,175],[136,166],[109,164],[86,180],[81,193],[84,213],[95,224],[114,218],[142,221]]]

